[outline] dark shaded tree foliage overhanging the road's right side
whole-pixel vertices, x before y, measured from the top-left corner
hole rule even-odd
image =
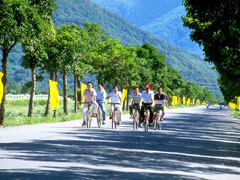
[[[184,0],[184,25],[203,46],[205,60],[220,74],[220,89],[227,101],[240,95],[240,1]],[[230,92],[230,93],[229,93]]]

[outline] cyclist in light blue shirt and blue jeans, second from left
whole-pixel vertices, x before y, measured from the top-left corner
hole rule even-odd
[[[103,89],[102,82],[98,83],[98,89],[96,90],[96,93],[97,93],[97,103],[102,110],[103,124],[105,124],[106,110],[105,110],[104,102],[105,102],[105,98],[106,98],[106,91]]]

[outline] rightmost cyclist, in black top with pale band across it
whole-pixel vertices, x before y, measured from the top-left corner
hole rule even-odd
[[[160,117],[160,121],[163,121],[163,117],[165,115],[165,104],[166,104],[166,95],[163,93],[162,88],[158,88],[158,92],[154,94],[154,101],[156,103],[154,107],[153,120],[156,120],[157,111],[162,111],[162,115]]]

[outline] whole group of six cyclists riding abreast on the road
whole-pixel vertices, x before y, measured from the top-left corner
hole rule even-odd
[[[92,87],[92,83],[88,82],[87,83],[87,89],[84,90],[83,93],[83,98],[82,98],[82,103],[84,103],[83,107],[83,124],[82,126],[86,125],[86,115],[87,115],[87,110],[88,110],[88,103],[91,103],[93,106],[93,117],[97,116],[97,110],[98,106],[100,107],[102,111],[102,119],[103,119],[103,125],[105,124],[106,121],[106,108],[105,108],[105,99],[106,99],[106,91],[104,90],[103,83],[99,82],[98,83],[98,89],[95,90]],[[155,106],[154,106],[154,101],[155,101]],[[113,91],[110,93],[110,97],[108,100],[108,103],[111,103],[110,106],[110,117],[109,119],[112,118],[112,112],[115,108],[117,108],[118,111],[118,118],[117,118],[117,125],[121,123],[121,117],[122,117],[122,93],[118,90],[118,86],[113,87]],[[151,126],[153,121],[156,120],[156,112],[157,111],[162,111],[160,121],[163,121],[163,117],[165,115],[165,104],[166,104],[166,96],[162,91],[162,88],[158,88],[157,93],[153,93],[151,90],[151,87],[149,84],[145,85],[145,90],[140,93],[139,88],[136,87],[134,89],[134,93],[131,97],[130,101],[130,115],[132,117],[133,115],[133,109],[138,110],[140,114],[139,118],[139,127],[142,127],[142,123],[144,122],[144,111],[146,109],[149,110],[150,112],[150,117],[149,117],[149,125]]]

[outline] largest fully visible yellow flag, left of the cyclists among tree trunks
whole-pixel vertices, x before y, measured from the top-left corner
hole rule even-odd
[[[51,110],[57,110],[60,104],[57,84],[56,81],[49,80]]]

